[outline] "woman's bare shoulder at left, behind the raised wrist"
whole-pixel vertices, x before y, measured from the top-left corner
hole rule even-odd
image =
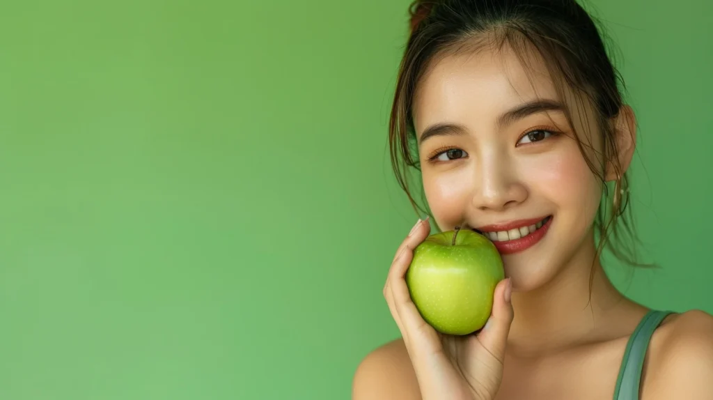
[[[421,399],[403,339],[384,344],[361,360],[354,374],[352,399]]]

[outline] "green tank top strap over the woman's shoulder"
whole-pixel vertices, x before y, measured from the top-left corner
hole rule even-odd
[[[651,336],[670,311],[651,310],[641,319],[641,322],[631,334],[627,342],[624,358],[619,369],[617,386],[614,389],[614,400],[639,400],[641,371],[644,366],[646,349]]]

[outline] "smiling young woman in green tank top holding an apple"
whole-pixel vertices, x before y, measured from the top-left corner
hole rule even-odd
[[[650,310],[615,289],[608,245],[633,262],[632,109],[575,0],[412,5],[391,114],[391,155],[420,173],[429,217],[391,264],[384,297],[402,339],[361,361],[353,398],[713,399],[713,318]],[[480,332],[424,322],[404,274],[430,232],[473,229],[506,279]],[[623,230],[622,230],[623,229]]]

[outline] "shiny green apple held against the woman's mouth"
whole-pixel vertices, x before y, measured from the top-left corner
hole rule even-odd
[[[421,317],[443,334],[481,329],[493,308],[493,292],[505,278],[493,242],[473,230],[440,232],[414,249],[406,284]]]

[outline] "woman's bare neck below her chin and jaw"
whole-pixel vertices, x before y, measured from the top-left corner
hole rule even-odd
[[[593,240],[548,284],[513,292],[512,298],[515,319],[508,347],[520,354],[595,340],[606,329],[603,320],[633,304],[605,274]]]

